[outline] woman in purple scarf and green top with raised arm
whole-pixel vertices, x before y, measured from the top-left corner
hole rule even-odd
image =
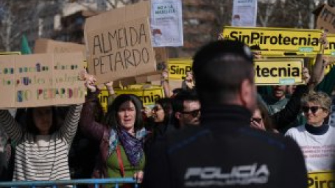
[[[141,182],[144,168],[144,136],[142,102],[135,95],[119,95],[107,108],[103,124],[94,120],[93,102],[100,91],[95,79],[87,81],[89,92],[82,109],[80,129],[100,142],[100,153],[93,178],[136,178]],[[107,185],[113,187],[113,185]],[[127,187],[127,185],[124,185]]]

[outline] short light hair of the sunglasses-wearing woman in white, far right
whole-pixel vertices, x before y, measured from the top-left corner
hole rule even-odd
[[[323,109],[330,111],[332,105],[332,99],[322,91],[310,91],[301,98],[302,106],[306,105],[308,102],[313,102],[315,104],[320,104]]]

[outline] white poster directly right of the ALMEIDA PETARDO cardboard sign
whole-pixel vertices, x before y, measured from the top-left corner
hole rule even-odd
[[[151,34],[154,47],[184,45],[181,0],[151,0]]]

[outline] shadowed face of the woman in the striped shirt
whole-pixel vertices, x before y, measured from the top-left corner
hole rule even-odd
[[[52,108],[38,107],[33,110],[33,120],[40,134],[49,134],[52,126]]]

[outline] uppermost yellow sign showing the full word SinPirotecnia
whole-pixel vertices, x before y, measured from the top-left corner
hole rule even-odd
[[[321,30],[260,27],[230,27],[223,29],[224,38],[239,40],[261,50],[320,52]]]

